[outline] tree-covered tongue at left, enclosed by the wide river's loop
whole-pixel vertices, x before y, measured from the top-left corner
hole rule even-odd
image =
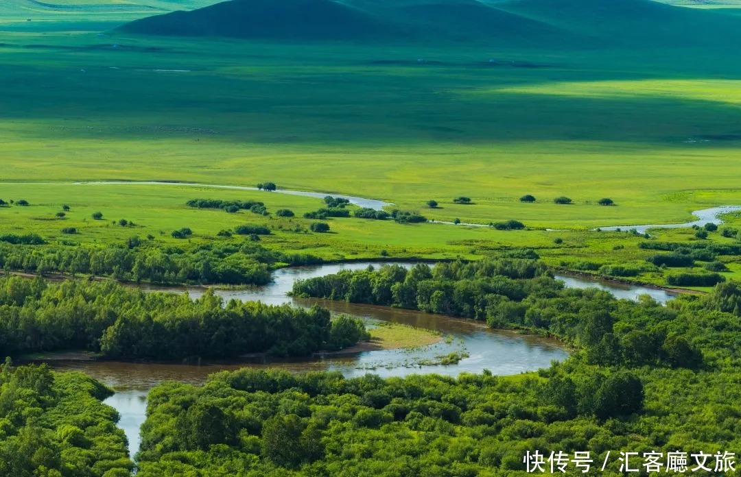
[[[320,307],[197,300],[145,293],[112,281],[0,278],[0,355],[90,350],[105,358],[308,356],[367,338],[356,318]]]

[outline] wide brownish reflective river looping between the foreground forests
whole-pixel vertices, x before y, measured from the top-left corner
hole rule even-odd
[[[397,264],[411,267],[413,262]],[[337,370],[345,376],[360,376],[365,373],[376,373],[383,377],[408,376],[413,373],[440,373],[457,376],[462,372],[480,373],[485,369],[498,375],[512,375],[548,367],[551,361],[562,360],[568,356],[557,341],[491,330],[479,321],[343,301],[293,298],[286,295],[293,287],[294,281],[330,275],[339,270],[360,270],[370,265],[379,267],[382,263],[356,262],[285,268],[277,270],[273,275],[273,282],[265,287],[250,290],[217,290],[216,293],[225,299],[260,300],[268,304],[288,302],[294,306],[306,307],[319,303],[333,312],[368,318],[371,326],[373,320],[391,321],[437,330],[452,338],[419,350],[376,350],[352,356],[318,357],[299,361],[256,358],[247,362],[210,362],[198,366],[119,361],[53,361],[51,365],[57,370],[82,371],[116,389],[116,394],[107,398],[105,402],[119,411],[121,415],[119,426],[124,429],[129,439],[133,456],[139,449],[139,427],[145,418],[147,392],[151,387],[166,380],[202,384],[210,373],[219,370],[236,370],[241,367],[270,367],[290,371]],[[665,290],[647,287],[571,276],[556,276],[556,278],[565,281],[567,287],[598,287],[610,291],[618,298],[635,299],[639,295],[648,294],[663,303],[674,297]],[[205,292],[202,287],[145,287],[145,289],[173,293],[187,292],[193,298]],[[448,366],[419,367],[415,364],[419,359],[434,358],[436,355],[456,350],[465,350],[469,354],[468,358],[462,359],[458,364]]]

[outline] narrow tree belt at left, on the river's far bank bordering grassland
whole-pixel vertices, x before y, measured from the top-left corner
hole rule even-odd
[[[239,229],[237,233],[255,232]],[[266,284],[270,270],[280,264],[322,261],[308,255],[275,252],[250,241],[162,247],[133,236],[123,244],[105,247],[45,243],[33,234],[0,236],[0,268],[40,275],[89,274],[168,284]]]

